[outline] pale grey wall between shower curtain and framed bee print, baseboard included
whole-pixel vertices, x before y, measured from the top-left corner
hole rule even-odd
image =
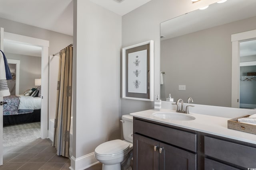
[[[71,169],[94,164],[94,149],[120,138],[121,23],[89,0],[74,0]]]

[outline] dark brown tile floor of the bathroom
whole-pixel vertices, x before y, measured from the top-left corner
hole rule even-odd
[[[58,156],[50,139],[36,139],[22,145],[4,147],[0,170],[69,170],[70,159]],[[96,164],[86,170],[101,170]]]

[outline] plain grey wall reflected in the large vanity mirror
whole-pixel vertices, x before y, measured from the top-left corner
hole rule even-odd
[[[162,100],[170,93],[174,101],[231,107],[231,35],[255,28],[253,17],[161,41]]]

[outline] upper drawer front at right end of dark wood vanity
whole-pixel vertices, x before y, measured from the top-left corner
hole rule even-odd
[[[244,168],[256,167],[256,148],[204,137],[204,154]]]

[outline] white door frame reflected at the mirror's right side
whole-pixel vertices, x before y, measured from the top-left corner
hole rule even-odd
[[[232,81],[231,107],[240,107],[240,42],[256,38],[256,29],[231,35],[232,42]]]

